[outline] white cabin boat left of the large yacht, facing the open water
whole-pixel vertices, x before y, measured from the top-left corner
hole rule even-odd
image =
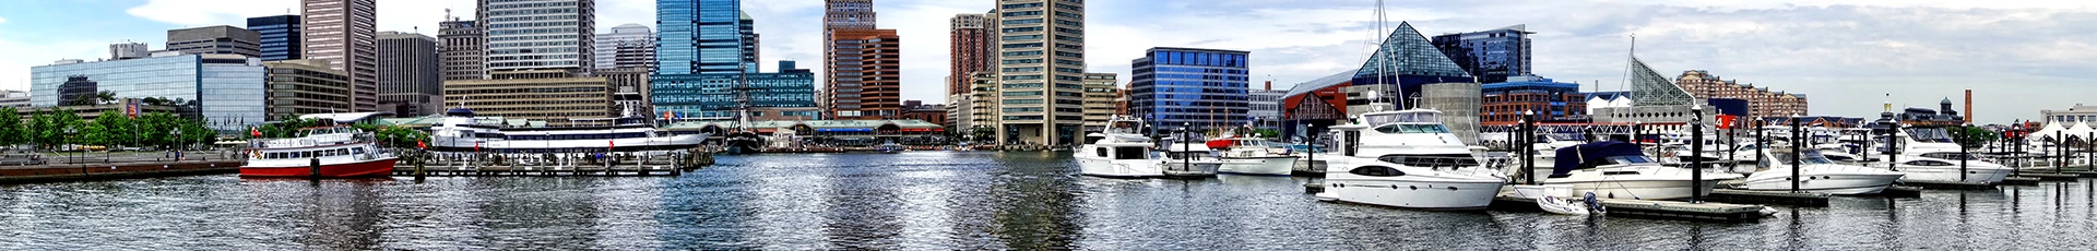
[[[1151,155],[1151,138],[1139,134],[1139,128],[1143,128],[1143,119],[1114,117],[1105,132],[1088,134],[1086,138],[1095,140],[1072,153],[1078,159],[1078,174],[1101,178],[1166,176],[1160,165],[1164,157]]]

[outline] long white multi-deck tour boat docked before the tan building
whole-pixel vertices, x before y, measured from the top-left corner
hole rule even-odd
[[[434,153],[637,153],[661,155],[700,149],[709,134],[671,136],[648,117],[627,111],[612,126],[503,128],[476,123],[474,111],[451,109],[430,128]]]

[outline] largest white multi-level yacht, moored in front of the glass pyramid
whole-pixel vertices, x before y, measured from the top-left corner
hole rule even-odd
[[[1378,111],[1361,123],[1334,126],[1340,144],[1317,155],[1325,172],[1321,201],[1409,209],[1485,209],[1508,182],[1487,169],[1441,123],[1441,111]]]

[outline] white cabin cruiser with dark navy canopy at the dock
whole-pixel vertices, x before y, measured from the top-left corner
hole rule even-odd
[[[1703,174],[1694,180],[1688,167],[1669,167],[1648,159],[1629,142],[1590,142],[1556,151],[1552,176],[1543,184],[1571,184],[1575,195],[1594,192],[1602,199],[1688,199],[1690,186],[1696,195],[1709,195],[1720,180],[1741,178],[1738,174]]]

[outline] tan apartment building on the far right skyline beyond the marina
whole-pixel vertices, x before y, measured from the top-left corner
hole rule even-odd
[[[1676,77],[1676,86],[1696,98],[1741,98],[1747,100],[1749,117],[1791,117],[1808,115],[1806,94],[1770,92],[1768,86],[1738,84],[1722,79],[1711,71],[1690,69]]]

